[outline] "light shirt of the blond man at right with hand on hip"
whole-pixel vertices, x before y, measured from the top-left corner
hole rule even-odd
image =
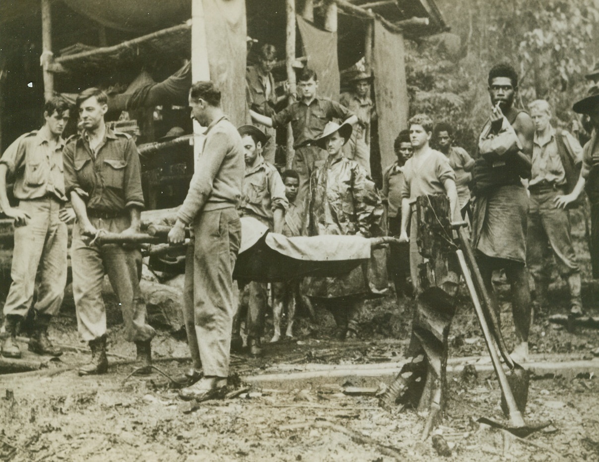
[[[562,131],[564,142],[568,144],[570,150],[576,156],[574,162],[582,160],[582,148],[574,136],[566,131]],[[555,129],[549,126],[547,136],[540,139],[537,132],[534,133],[533,140],[533,167],[531,180],[528,186],[536,184],[555,184],[562,186],[566,183],[565,169],[559,156],[558,143],[556,140]]]

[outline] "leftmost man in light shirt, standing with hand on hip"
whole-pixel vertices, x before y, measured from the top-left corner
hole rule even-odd
[[[66,224],[72,215],[65,211],[60,135],[69,119],[68,103],[52,98],[44,108],[44,126],[17,138],[0,159],[0,206],[14,218],[13,282],[4,305],[8,337],[2,355],[20,358],[16,343],[17,325],[27,315],[34,299],[35,277],[40,272],[38,298],[34,305],[35,332],[29,350],[37,354],[62,354],[47,336],[50,319],[58,313],[66,284]],[[16,208],[8,203],[7,172],[15,175]]]

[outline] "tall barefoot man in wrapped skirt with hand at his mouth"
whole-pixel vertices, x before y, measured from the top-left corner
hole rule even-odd
[[[531,176],[534,123],[514,107],[518,74],[508,64],[489,71],[489,118],[479,136],[473,169],[473,247],[486,288],[499,308],[492,284],[494,270],[503,269],[512,287],[516,328],[514,359],[528,358],[530,288],[526,262],[528,196],[522,180]]]

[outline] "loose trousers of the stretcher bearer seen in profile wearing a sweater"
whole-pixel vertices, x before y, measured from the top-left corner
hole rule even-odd
[[[193,284],[197,350],[195,345],[190,349],[192,357],[199,352],[204,375],[227,377],[235,314],[232,275],[241,244],[239,215],[233,207],[201,212],[193,221],[193,235],[193,267],[186,266],[184,288],[190,294]],[[188,339],[193,339],[189,333]]]

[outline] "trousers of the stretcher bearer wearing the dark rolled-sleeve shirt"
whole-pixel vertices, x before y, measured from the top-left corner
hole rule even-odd
[[[90,218],[96,229],[120,233],[129,227],[128,217]],[[104,275],[119,299],[125,324],[125,339],[143,342],[156,332],[147,323],[146,302],[140,290],[141,253],[118,244],[88,245],[81,229],[73,227],[71,244],[73,297],[77,326],[84,341],[97,339],[106,333],[106,309],[102,299]]]

